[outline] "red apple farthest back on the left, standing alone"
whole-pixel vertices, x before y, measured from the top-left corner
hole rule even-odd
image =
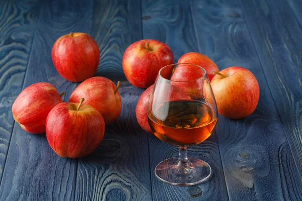
[[[62,77],[72,82],[79,82],[96,73],[100,61],[100,50],[90,35],[70,33],[55,41],[51,58]]]

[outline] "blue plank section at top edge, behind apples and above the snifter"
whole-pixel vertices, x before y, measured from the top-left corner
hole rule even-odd
[[[168,44],[175,62],[188,51],[198,52],[188,2],[142,0],[142,25],[143,38]]]

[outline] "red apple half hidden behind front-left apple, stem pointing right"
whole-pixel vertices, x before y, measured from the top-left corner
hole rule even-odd
[[[105,124],[114,122],[122,111],[121,97],[117,87],[106,77],[92,77],[82,82],[69,97],[71,103],[79,103],[81,97],[84,104],[97,109],[104,118]]]

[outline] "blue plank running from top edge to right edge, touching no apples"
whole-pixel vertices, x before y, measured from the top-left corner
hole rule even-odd
[[[249,1],[241,7],[302,179],[301,26],[287,1]]]

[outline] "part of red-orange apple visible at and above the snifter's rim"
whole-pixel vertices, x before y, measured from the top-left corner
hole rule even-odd
[[[214,71],[219,71],[217,65],[209,57],[198,52],[189,52],[182,55],[177,63],[191,63],[201,66],[205,69],[210,81],[214,76]],[[202,74],[196,73],[195,69],[195,66],[187,66],[187,68],[176,67],[171,80],[188,81],[201,77]]]

